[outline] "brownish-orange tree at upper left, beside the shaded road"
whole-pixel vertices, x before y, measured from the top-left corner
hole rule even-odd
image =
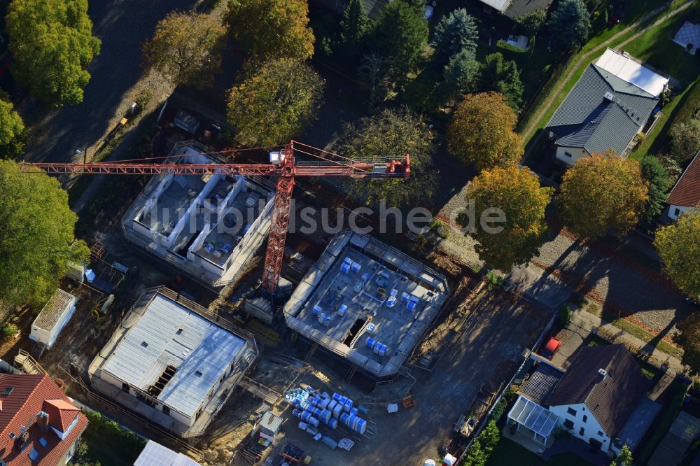
[[[144,44],[148,64],[176,84],[206,83],[221,66],[226,27],[215,15],[169,13]]]

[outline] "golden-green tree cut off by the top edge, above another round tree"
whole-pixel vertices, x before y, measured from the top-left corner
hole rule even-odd
[[[234,40],[255,59],[314,55],[307,0],[228,0],[226,21]]]

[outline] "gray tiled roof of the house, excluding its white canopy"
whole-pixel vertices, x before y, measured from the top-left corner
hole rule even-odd
[[[605,92],[613,94],[612,101]],[[622,153],[659,101],[639,87],[626,83],[591,64],[556,109],[547,129],[556,134],[556,145],[603,153]]]

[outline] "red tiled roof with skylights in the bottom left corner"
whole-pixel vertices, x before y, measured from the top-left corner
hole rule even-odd
[[[12,391],[2,396],[3,390],[10,387]],[[55,466],[87,428],[85,415],[76,411],[68,397],[46,375],[0,374],[0,401],[0,457],[8,466]],[[36,414],[39,411],[49,415],[49,427],[46,430],[37,422]],[[76,415],[76,425],[73,425],[66,438],[61,439],[54,428],[66,432]],[[27,424],[29,437],[20,451],[20,428]],[[10,437],[10,432],[15,439]],[[45,441],[45,445],[40,439]],[[38,453],[36,461],[29,458],[32,449]]]

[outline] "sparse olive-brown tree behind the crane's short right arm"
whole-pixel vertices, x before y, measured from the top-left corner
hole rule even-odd
[[[384,108],[371,117],[346,125],[337,152],[356,160],[400,160],[411,157],[411,177],[374,182],[349,180],[349,195],[367,205],[425,206],[433,195],[433,133],[421,115],[408,108]]]

